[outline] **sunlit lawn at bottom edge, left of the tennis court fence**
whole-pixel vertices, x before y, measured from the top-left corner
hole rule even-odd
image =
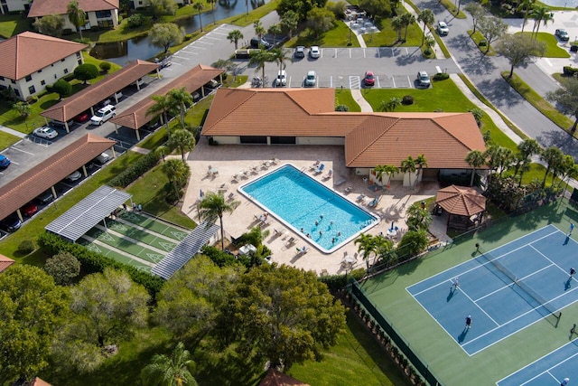
[[[312,386],[411,384],[352,312],[346,332],[321,362],[295,364],[289,374]]]

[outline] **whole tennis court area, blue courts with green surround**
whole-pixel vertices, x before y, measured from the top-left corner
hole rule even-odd
[[[570,329],[578,324],[578,277],[569,271],[578,268],[578,234],[567,237],[571,222],[578,222],[576,207],[554,202],[455,239],[361,290],[443,385],[576,381],[578,334]]]

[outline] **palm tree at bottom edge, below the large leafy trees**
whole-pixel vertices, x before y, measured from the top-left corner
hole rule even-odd
[[[191,372],[194,368],[191,353],[184,349],[179,342],[172,351],[171,357],[164,354],[155,354],[153,362],[146,365],[141,372],[145,385],[196,386],[197,381]]]

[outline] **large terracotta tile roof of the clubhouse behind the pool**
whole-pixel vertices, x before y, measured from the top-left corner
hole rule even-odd
[[[349,167],[401,165],[424,154],[429,168],[470,168],[485,150],[471,113],[343,113],[334,89],[219,89],[203,136],[344,137]]]

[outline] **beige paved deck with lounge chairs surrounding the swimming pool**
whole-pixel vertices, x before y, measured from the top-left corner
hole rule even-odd
[[[276,165],[268,168],[263,167],[265,161],[278,159]],[[309,167],[316,161],[321,160],[325,164],[322,174],[314,175],[309,171]],[[395,182],[390,189],[374,192],[369,190],[368,184],[364,183],[363,176],[355,175],[354,171],[345,167],[343,146],[209,146],[207,139],[200,138],[199,144],[187,156],[187,162],[191,166],[191,179],[185,193],[182,211],[190,216],[194,221],[198,221],[197,202],[200,198],[200,190],[203,192],[224,193],[226,199],[230,193],[234,194],[233,200],[240,202],[238,208],[232,214],[225,214],[223,225],[225,236],[239,237],[241,234],[254,228],[259,221],[256,220],[263,211],[245,196],[238,193],[238,186],[247,184],[256,177],[266,174],[276,167],[284,164],[291,164],[302,169],[305,167],[307,174],[317,181],[343,194],[351,202],[356,202],[359,194],[365,194],[364,206],[368,212],[373,212],[381,218],[379,224],[373,227],[368,233],[378,234],[387,232],[391,226],[391,221],[395,221],[400,229],[396,240],[401,240],[406,225],[406,208],[412,203],[419,202],[425,198],[432,197],[439,189],[438,184],[425,182],[413,189],[403,187],[400,182]],[[251,167],[258,165],[256,172],[251,171]],[[208,175],[210,168],[217,169],[218,174]],[[323,178],[329,170],[333,170],[333,175],[329,179]],[[248,178],[240,178],[235,183],[232,177],[242,170],[248,172]],[[341,183],[341,184],[339,184]],[[336,184],[339,184],[336,186]],[[351,186],[350,193],[345,193],[345,189]],[[379,197],[376,207],[369,208],[367,202]],[[228,200],[230,202],[230,200]],[[447,240],[445,235],[444,222],[441,218],[434,216],[433,225],[430,231],[440,240]],[[345,272],[341,268],[341,260],[345,254],[353,256],[357,252],[357,246],[350,241],[340,249],[331,254],[324,254],[318,249],[312,248],[311,244],[304,241],[302,235],[297,234],[284,227],[284,225],[273,216],[268,217],[269,225],[264,230],[270,234],[264,239],[264,244],[272,250],[272,260],[278,264],[287,264],[297,268],[313,270],[318,275],[342,274]],[[275,231],[285,232],[283,235],[275,234]],[[289,243],[293,238],[295,241]],[[307,246],[307,253],[297,252],[297,248]],[[365,262],[357,259],[354,267],[363,267]]]

